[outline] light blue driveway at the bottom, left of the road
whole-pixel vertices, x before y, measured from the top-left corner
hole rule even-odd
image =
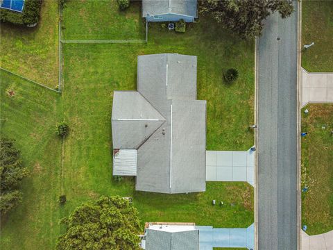
[[[196,226],[199,229],[200,250],[212,250],[213,247],[246,247],[255,249],[255,225],[248,228],[213,228]]]

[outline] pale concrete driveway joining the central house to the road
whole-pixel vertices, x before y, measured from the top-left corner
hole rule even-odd
[[[253,151],[206,151],[206,181],[246,181],[255,185]]]

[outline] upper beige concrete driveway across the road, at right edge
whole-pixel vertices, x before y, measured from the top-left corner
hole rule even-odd
[[[309,73],[302,68],[302,106],[333,103],[333,73]]]

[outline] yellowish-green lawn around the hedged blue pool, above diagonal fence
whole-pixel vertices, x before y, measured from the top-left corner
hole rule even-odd
[[[43,1],[35,28],[1,23],[1,67],[43,85],[58,85],[58,1]]]

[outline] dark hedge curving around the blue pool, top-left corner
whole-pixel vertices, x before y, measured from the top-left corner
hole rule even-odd
[[[17,25],[35,24],[40,19],[41,6],[42,0],[26,0],[22,13],[0,8],[0,21]]]

